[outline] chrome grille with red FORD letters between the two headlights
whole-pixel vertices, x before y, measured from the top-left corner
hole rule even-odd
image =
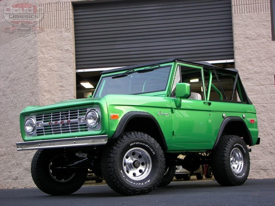
[[[41,128],[36,128],[36,135],[88,131],[86,122],[79,122],[79,117],[85,118],[86,112],[87,109],[77,109],[36,115],[36,123],[42,123]]]

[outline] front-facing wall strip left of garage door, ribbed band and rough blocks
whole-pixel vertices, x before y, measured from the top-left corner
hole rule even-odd
[[[76,98],[75,40],[71,2],[39,4],[40,105]]]

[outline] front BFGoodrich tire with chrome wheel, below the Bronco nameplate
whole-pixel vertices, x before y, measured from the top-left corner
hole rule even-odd
[[[117,193],[149,193],[162,181],[165,158],[160,145],[151,136],[127,132],[106,146],[101,159],[102,175]]]

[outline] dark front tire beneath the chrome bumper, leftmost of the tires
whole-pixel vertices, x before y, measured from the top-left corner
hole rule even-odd
[[[62,150],[37,150],[31,161],[31,176],[36,186],[50,195],[68,195],[79,190],[87,169],[64,168]]]

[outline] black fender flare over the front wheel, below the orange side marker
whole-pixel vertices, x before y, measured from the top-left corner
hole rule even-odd
[[[156,118],[148,112],[130,111],[130,112],[127,112],[126,114],[124,114],[123,117],[121,118],[121,120],[119,121],[119,124],[116,127],[115,133],[113,134],[113,136],[110,139],[116,139],[117,137],[122,136],[123,131],[125,130],[128,122],[135,117],[150,118],[156,124],[156,126],[159,130],[159,133],[160,133],[160,139],[164,146],[163,151],[166,151],[167,144],[166,144],[163,132],[160,128],[160,125],[159,125],[158,121],[156,120]]]

